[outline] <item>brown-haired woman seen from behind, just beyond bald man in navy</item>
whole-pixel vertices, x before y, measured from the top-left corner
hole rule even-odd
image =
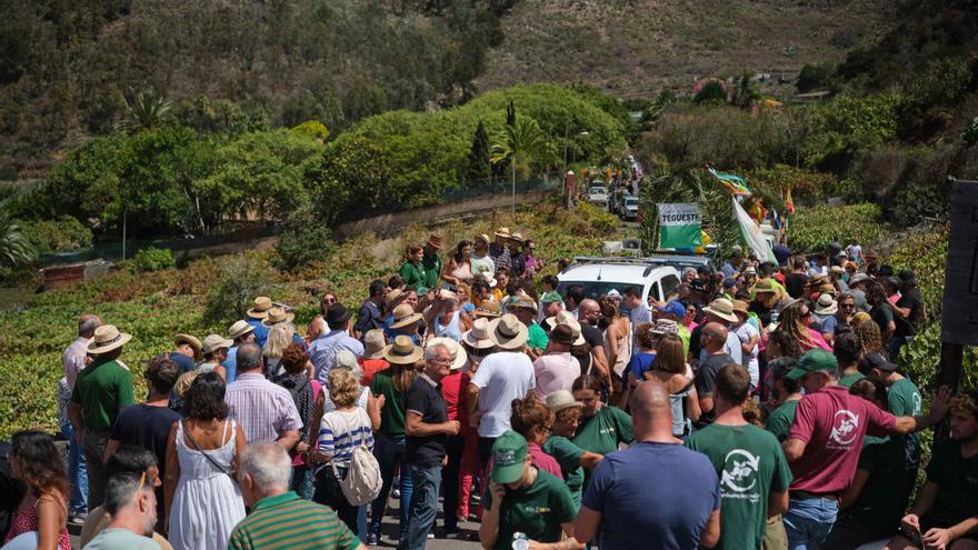
[[[661,383],[669,391],[672,436],[680,439],[689,436],[692,423],[702,414],[692,377],[687,376],[685,357],[682,340],[678,336],[666,334],[656,348],[651,370],[642,374],[645,380]]]

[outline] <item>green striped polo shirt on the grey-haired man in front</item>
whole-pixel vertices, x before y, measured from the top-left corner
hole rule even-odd
[[[231,531],[228,550],[355,550],[360,540],[329,507],[292,491],[267,497]]]

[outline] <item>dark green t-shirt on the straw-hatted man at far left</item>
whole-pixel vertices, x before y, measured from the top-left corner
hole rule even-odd
[[[109,431],[119,411],[133,403],[132,374],[117,360],[96,359],[78,373],[71,402],[81,404],[87,430]]]

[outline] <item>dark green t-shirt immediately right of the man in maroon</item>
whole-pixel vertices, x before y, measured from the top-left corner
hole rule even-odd
[[[904,468],[904,442],[900,437],[867,437],[859,453],[859,469],[868,471],[869,478],[862,492],[849,507],[849,513],[874,538],[895,533],[907,509],[914,483]]]

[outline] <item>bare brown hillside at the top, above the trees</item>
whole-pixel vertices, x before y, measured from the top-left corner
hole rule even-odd
[[[476,83],[583,81],[635,98],[663,87],[686,91],[696,77],[797,72],[878,40],[896,3],[523,0],[503,18],[502,44]]]

